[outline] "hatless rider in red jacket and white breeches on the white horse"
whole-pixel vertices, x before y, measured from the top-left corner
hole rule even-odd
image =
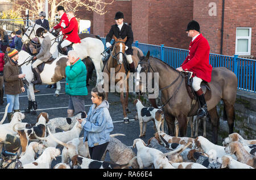
[[[78,35],[78,22],[75,18],[74,11],[69,10],[67,12],[69,24],[68,27],[63,29],[62,32],[67,38],[61,42],[60,46],[65,55],[68,55],[68,48],[67,46],[73,43],[81,43],[80,37]]]

